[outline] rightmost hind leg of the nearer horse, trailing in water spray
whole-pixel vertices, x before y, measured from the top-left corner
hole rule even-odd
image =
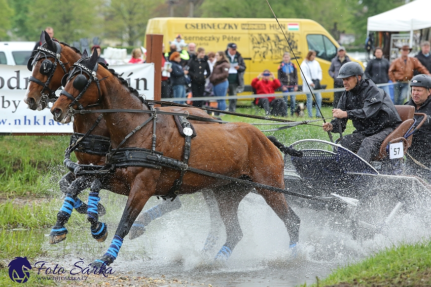
[[[290,243],[289,248],[294,248],[299,242],[299,226],[301,220],[296,213],[288,206],[284,194],[270,190],[259,189],[258,193],[262,195],[266,203],[272,208],[275,214],[283,221],[288,230]]]

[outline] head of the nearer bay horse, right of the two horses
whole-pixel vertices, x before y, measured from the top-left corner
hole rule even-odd
[[[71,71],[63,76],[61,84],[64,90],[51,108],[54,120],[67,124],[71,121],[71,109],[82,110],[84,107],[97,106],[101,100],[99,81],[111,75],[107,69],[100,69],[97,63],[98,54],[94,49],[91,57],[84,51],[72,67]],[[107,74],[107,73],[109,74]],[[106,74],[105,77],[99,74]],[[85,97],[83,95],[85,94]]]

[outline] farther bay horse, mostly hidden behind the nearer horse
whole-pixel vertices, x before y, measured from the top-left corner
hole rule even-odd
[[[55,91],[61,87],[61,79],[64,74],[71,68],[71,66],[81,59],[81,53],[75,47],[70,47],[65,43],[57,42],[57,40],[50,38],[47,32],[42,31],[41,34],[42,46],[37,53],[33,53],[32,58],[30,58],[27,68],[32,70],[32,76],[29,80],[29,86],[27,88],[26,94],[24,96],[24,102],[32,110],[43,110],[47,106],[47,102],[51,99],[56,99]],[[84,52],[86,56],[86,52]],[[172,111],[172,112],[189,112],[192,115],[197,115],[201,117],[210,117],[206,112],[201,109],[194,107],[160,107],[159,110]],[[74,132],[79,134],[85,134],[96,121],[98,114],[85,114],[76,115],[74,120]],[[212,124],[212,122],[196,121],[191,120],[193,124]],[[100,119],[99,124],[91,131],[90,135],[105,137],[109,140],[110,133],[106,127],[106,123],[103,118]],[[105,153],[92,153],[92,152],[79,152],[75,150],[75,155],[78,162],[83,165],[95,165],[101,166],[104,164]],[[87,214],[89,212],[88,219],[92,224],[92,235],[97,241],[104,241],[107,232],[105,228],[102,228],[102,223],[98,222],[98,216],[104,214],[104,208],[98,201],[98,192],[101,188],[111,190],[112,192],[127,195],[129,187],[127,185],[122,185],[122,181],[118,181],[116,177],[104,177],[103,183],[101,184],[98,180],[95,182],[93,176],[80,176],[75,177],[74,173],[67,173],[60,180],[60,190],[66,195],[67,193],[79,193],[82,190],[90,187],[89,202],[90,210],[85,202],[82,202],[78,197],[75,199],[73,207],[79,213]],[[217,207],[213,207],[214,204],[212,199],[212,192],[209,190],[203,190],[205,201],[208,204],[210,214],[214,215],[218,212]],[[95,205],[97,209],[95,209]],[[171,212],[173,210],[179,209],[181,207],[181,201],[176,198],[173,201],[167,200],[151,208],[150,210],[143,212],[141,214],[141,224],[136,224],[134,227],[135,233],[134,237],[137,237],[139,232],[142,232],[142,226],[148,225],[151,220],[154,220],[163,214]],[[63,212],[58,215],[58,221],[56,227],[53,228],[51,232],[51,243],[58,243],[66,238],[67,229],[65,229],[64,224],[66,223],[68,217],[71,213],[71,208],[64,208]],[[97,212],[95,214],[95,212]],[[64,214],[65,213],[65,214]],[[218,227],[215,225],[217,223],[212,221],[211,216],[211,231],[208,238],[213,238],[213,230],[217,230]],[[101,229],[102,228],[102,229]],[[104,229],[104,230],[103,230]],[[101,233],[98,233],[101,232]],[[208,249],[214,240],[207,240],[204,249]]]

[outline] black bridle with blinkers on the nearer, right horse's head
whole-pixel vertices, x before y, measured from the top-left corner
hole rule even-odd
[[[93,70],[90,70],[84,64],[81,64],[81,62],[83,60],[88,60],[88,59],[89,59],[89,57],[80,59],[78,62],[76,62],[71,67],[72,71],[70,73],[66,73],[63,76],[63,78],[61,79],[61,85],[63,85],[63,87],[65,87],[66,83],[69,81],[69,79],[73,78],[75,75],[78,74],[77,77],[74,79],[73,86],[75,89],[80,91],[79,95],[75,98],[73,95],[66,92],[65,90],[60,92],[60,95],[64,95],[72,101],[69,104],[70,110],[74,110],[74,105],[77,106],[77,110],[83,110],[86,108],[98,106],[100,104],[100,100],[101,100],[100,81],[106,79],[106,77],[101,78],[100,80],[97,78],[97,68],[99,66],[97,63],[96,63],[96,65],[94,65]],[[87,80],[87,77],[83,73],[88,75],[88,80]],[[95,104],[88,105],[84,108],[82,106],[82,104],[78,101],[82,98],[82,96],[87,91],[88,87],[90,87],[90,85],[93,81],[97,85],[97,91],[99,93],[99,99],[97,100],[97,102]],[[71,116],[73,114],[69,113],[69,115]]]

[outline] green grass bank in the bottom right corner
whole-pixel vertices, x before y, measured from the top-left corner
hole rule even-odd
[[[334,270],[318,283],[324,286],[431,286],[431,242],[401,244]]]

